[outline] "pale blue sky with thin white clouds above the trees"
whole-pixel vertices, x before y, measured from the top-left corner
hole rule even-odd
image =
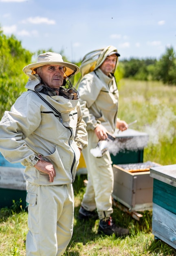
[[[108,45],[122,59],[160,58],[176,49],[175,13],[176,0],[0,0],[4,34],[31,52],[63,49],[69,61]]]

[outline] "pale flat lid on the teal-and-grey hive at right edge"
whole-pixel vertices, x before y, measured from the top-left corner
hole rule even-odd
[[[150,177],[176,187],[176,164],[151,167]]]

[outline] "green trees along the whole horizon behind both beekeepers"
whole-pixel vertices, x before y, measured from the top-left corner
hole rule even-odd
[[[14,35],[6,36],[0,30],[0,117],[5,110],[9,110],[15,100],[24,92],[24,86],[28,77],[22,72],[24,66],[35,62],[32,59],[38,54],[53,49],[41,49],[38,52],[30,52],[22,47]],[[64,61],[68,58],[64,50],[58,51],[62,54]],[[75,63],[80,65],[81,61]],[[176,57],[173,47],[166,49],[160,60],[130,58],[119,62],[115,76],[119,81],[121,78],[137,80],[157,80],[169,85],[176,85]],[[79,79],[79,74],[75,80]],[[75,82],[76,82],[75,81]]]

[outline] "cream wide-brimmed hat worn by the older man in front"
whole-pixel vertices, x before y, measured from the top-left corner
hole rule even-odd
[[[23,72],[29,75],[29,69],[32,70],[31,74],[36,74],[37,67],[41,67],[44,65],[60,65],[66,67],[65,74],[66,76],[70,77],[73,74],[77,74],[79,72],[79,67],[75,64],[65,62],[62,59],[62,56],[56,52],[45,52],[40,54],[37,57],[36,63],[31,63],[23,68]],[[66,78],[64,76],[64,78]]]

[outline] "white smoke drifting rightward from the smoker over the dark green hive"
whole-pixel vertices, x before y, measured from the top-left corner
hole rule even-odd
[[[156,118],[152,121],[152,124],[140,127],[140,121],[138,121],[138,131],[128,128],[124,132],[120,131],[118,133],[118,130],[116,130],[113,134],[116,139],[114,141],[101,141],[97,148],[92,149],[92,155],[101,157],[106,150],[109,150],[115,156],[120,151],[142,150],[152,145],[158,146],[163,141],[172,143],[176,136],[176,115],[174,115],[172,108],[161,105],[157,99],[153,98],[151,101],[154,112],[156,112]],[[145,110],[143,115],[147,115],[147,109]]]

